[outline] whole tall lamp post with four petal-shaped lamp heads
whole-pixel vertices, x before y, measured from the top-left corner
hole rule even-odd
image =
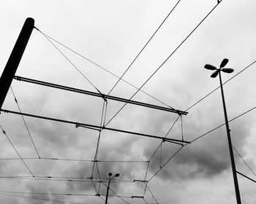
[[[209,70],[215,70],[214,73],[211,74],[212,78],[215,78],[219,74],[219,83],[220,83],[220,89],[222,92],[222,103],[223,103],[223,110],[224,110],[224,116],[225,116],[225,125],[226,125],[226,130],[227,130],[227,141],[228,141],[228,147],[230,150],[230,160],[231,160],[233,180],[234,180],[234,185],[235,185],[235,190],[236,190],[236,202],[238,204],[241,204],[238,180],[237,180],[237,176],[236,176],[236,165],[235,165],[231,137],[230,137],[230,127],[228,125],[227,109],[226,109],[224,92],[223,92],[223,87],[222,87],[222,76],[220,74],[221,71],[223,71],[225,73],[232,73],[234,71],[233,68],[223,68],[224,66],[226,66],[227,63],[228,63],[228,59],[224,59],[224,60],[222,60],[222,63],[220,64],[219,68],[217,68],[216,66],[212,66],[210,64],[206,64],[206,66],[204,66],[204,68],[209,69]]]

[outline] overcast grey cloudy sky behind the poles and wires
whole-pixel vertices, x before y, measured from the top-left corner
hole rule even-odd
[[[236,203],[226,130],[219,127],[225,122],[220,90],[211,93],[219,79],[203,66],[228,58],[235,70],[222,79],[235,76],[224,89],[236,168],[256,179],[255,7],[253,0],[2,0],[1,72],[33,17],[39,31],[31,34],[17,76],[127,99],[138,92],[132,100],[189,114],[181,123],[175,113],[130,104],[110,121],[124,103],[13,80],[22,112],[99,126],[107,107],[107,127],[192,143],[181,148],[109,130],[99,137],[97,130],[32,117],[24,117],[25,125],[20,115],[1,112],[1,203],[105,203],[110,172],[120,176],[110,184],[109,203]],[[2,108],[19,111],[13,93]],[[242,203],[256,203],[255,183],[239,174],[238,183]]]

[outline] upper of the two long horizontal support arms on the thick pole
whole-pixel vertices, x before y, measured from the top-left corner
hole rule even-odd
[[[161,110],[161,111],[169,111],[169,112],[173,112],[173,113],[176,113],[176,114],[184,114],[184,115],[187,114],[186,111],[179,111],[179,110],[176,110],[176,109],[173,109],[173,108],[155,106],[155,105],[152,105],[152,104],[149,104],[149,103],[142,103],[142,102],[139,102],[139,101],[132,101],[132,100],[129,100],[129,99],[126,99],[126,98],[119,98],[119,97],[112,96],[112,95],[105,95],[105,94],[100,94],[100,93],[94,93],[94,92],[87,91],[87,90],[80,90],[80,89],[73,88],[73,87],[66,87],[66,86],[62,86],[62,85],[56,85],[56,84],[52,84],[52,83],[49,83],[49,82],[42,82],[42,81],[35,80],[35,79],[25,78],[25,77],[22,77],[22,76],[14,76],[14,79],[16,79],[18,81],[22,81],[22,82],[29,82],[29,83],[36,84],[36,85],[43,85],[43,86],[46,86],[46,87],[53,87],[53,88],[57,88],[57,89],[61,89],[61,90],[68,90],[68,91],[72,91],[72,92],[75,92],[75,93],[93,95],[93,96],[97,96],[97,97],[100,97],[100,98],[103,98],[103,99],[110,99],[110,100],[113,100],[113,101],[121,101],[121,102],[124,102],[124,103],[130,103],[130,104],[134,104],[134,105],[137,105],[137,106],[144,106],[144,107],[148,107],[148,108],[151,108],[151,109],[158,109],[158,110]]]

